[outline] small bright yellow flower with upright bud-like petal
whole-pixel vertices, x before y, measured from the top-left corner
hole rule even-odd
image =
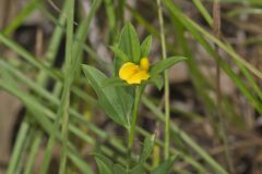
[[[130,85],[141,84],[142,80],[150,78],[148,69],[150,61],[147,58],[142,58],[140,65],[127,62],[120,67],[119,77]]]

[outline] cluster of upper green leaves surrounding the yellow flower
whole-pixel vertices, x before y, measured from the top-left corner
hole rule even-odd
[[[108,78],[100,71],[83,65],[84,73],[91,86],[95,89],[98,96],[98,103],[104,109],[106,114],[116,123],[128,128],[129,115],[132,112],[133,105],[133,86],[129,86],[126,82],[116,76],[119,66],[123,62],[138,63],[141,57],[147,57],[152,45],[152,37],[148,36],[140,46],[140,40],[134,27],[128,23],[120,36],[118,47],[111,47],[115,52],[115,77]],[[158,89],[163,87],[162,73],[171,65],[186,60],[183,57],[170,57],[158,61],[150,67],[150,79],[146,83],[153,83]]]

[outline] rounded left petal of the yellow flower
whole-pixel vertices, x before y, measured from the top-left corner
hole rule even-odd
[[[131,77],[133,74],[138,73],[139,71],[140,71],[139,65],[132,62],[127,62],[120,67],[119,77],[121,79],[127,80],[129,77]]]

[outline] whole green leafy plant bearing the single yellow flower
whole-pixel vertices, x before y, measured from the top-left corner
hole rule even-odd
[[[183,57],[170,57],[151,65],[148,59],[151,45],[152,36],[147,36],[140,44],[134,27],[128,23],[121,30],[119,42],[110,47],[115,53],[111,77],[107,77],[91,65],[83,65],[84,74],[97,94],[99,107],[114,122],[123,126],[128,135],[128,161],[126,166],[114,163],[100,153],[94,153],[100,174],[142,174],[145,172],[144,165],[151,157],[155,136],[152,135],[144,139],[140,158],[134,159],[133,146],[141,97],[147,84],[154,84],[160,89],[164,84],[163,72],[186,60]],[[175,158],[172,157],[165,160],[151,173],[168,173],[174,161]]]

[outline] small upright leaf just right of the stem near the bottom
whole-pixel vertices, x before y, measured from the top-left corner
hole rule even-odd
[[[155,135],[147,136],[143,144],[143,149],[140,156],[140,162],[144,163],[146,159],[151,156],[155,141]]]

